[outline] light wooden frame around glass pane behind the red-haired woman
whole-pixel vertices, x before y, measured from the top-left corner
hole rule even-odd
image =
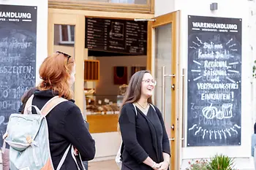
[[[78,105],[81,112],[84,109],[83,98],[83,58],[85,47],[85,19],[83,15],[72,15],[62,13],[50,13],[48,15],[48,55],[54,53],[54,25],[73,25],[75,26],[75,104]],[[70,54],[74,55],[74,54]]]

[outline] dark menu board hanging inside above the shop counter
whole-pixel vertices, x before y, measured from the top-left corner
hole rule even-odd
[[[86,48],[130,55],[146,55],[147,22],[86,18]]]

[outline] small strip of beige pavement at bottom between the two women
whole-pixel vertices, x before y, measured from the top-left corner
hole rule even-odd
[[[89,163],[88,170],[119,170],[115,160]]]

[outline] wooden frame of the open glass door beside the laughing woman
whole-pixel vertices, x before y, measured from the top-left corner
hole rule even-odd
[[[171,74],[175,74],[176,76],[172,78],[171,84],[175,84],[176,87],[178,87],[178,72],[176,68],[176,62],[178,60],[178,11],[171,12],[166,15],[161,15],[157,18],[153,18],[153,21],[148,21],[148,50],[147,50],[147,69],[151,70],[151,72],[154,72],[154,68],[152,65],[154,65],[154,31],[155,28],[159,26],[164,26],[166,24],[171,23]],[[176,88],[177,89],[177,88]],[[176,90],[177,91],[177,90]],[[174,141],[170,141],[170,148],[171,148],[171,158],[170,158],[170,169],[177,169],[179,164],[179,154],[178,154],[178,123],[177,118],[178,115],[176,114],[177,111],[177,101],[178,101],[178,93],[176,91],[173,91],[171,95],[171,125],[174,125],[174,131],[171,130],[170,133],[170,139],[175,139]]]

